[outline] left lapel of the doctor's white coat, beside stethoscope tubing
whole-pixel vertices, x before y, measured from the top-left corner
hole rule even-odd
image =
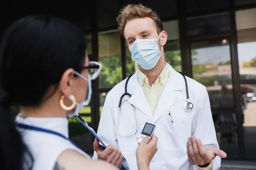
[[[152,119],[153,116],[150,111],[148,101],[137,79],[137,71],[131,77],[127,86],[127,91],[129,91],[129,88],[131,89],[131,98],[128,100],[128,102],[135,106],[135,111],[139,109],[140,111],[145,113],[150,119]],[[136,111],[136,114],[137,113],[138,111]]]

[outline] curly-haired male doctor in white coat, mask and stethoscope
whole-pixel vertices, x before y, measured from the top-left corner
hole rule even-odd
[[[121,151],[130,170],[137,170],[137,137],[145,122],[152,122],[158,151],[151,170],[218,170],[227,155],[219,150],[206,87],[165,62],[167,33],[157,13],[128,5],[117,21],[139,68],[106,96],[99,137]],[[111,162],[115,157],[97,140],[93,145],[93,159]]]

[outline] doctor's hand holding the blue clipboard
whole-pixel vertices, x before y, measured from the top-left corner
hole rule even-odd
[[[103,147],[99,144],[98,139],[94,140],[93,149],[96,151],[99,159],[108,161],[116,167],[119,167],[124,159],[120,150],[118,150],[116,147],[108,145],[108,147],[103,150]]]

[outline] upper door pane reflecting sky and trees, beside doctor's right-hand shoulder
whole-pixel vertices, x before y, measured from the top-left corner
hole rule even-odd
[[[207,87],[211,108],[233,108],[233,85],[228,39],[191,44],[193,79]]]

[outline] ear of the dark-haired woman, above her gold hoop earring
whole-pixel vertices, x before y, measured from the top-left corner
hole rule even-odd
[[[71,85],[73,84],[74,69],[67,69],[61,77],[60,90],[65,97],[72,94]]]

